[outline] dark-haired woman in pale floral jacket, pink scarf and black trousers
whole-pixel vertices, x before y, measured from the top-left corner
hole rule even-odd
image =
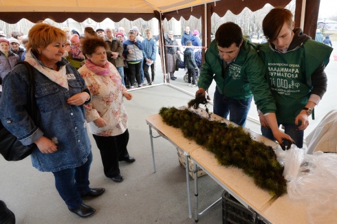
[[[116,67],[107,61],[104,40],[86,38],[82,49],[87,60],[78,71],[92,96],[91,102],[85,105],[85,119],[100,149],[105,176],[121,182],[124,177],[120,174],[118,161],[135,161],[127,151],[129,131],[123,103],[123,96],[131,100],[132,95],[122,85]]]

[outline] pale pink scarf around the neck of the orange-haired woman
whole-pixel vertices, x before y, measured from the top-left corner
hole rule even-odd
[[[31,49],[28,52],[26,52],[25,61],[30,63],[30,65],[32,65],[34,69],[41,72],[43,75],[47,76],[47,78],[49,78],[53,82],[69,90],[67,76],[65,75],[66,73],[65,65],[63,65],[58,71],[50,69],[49,67],[45,67],[41,65],[41,63],[39,63],[39,61],[35,58],[35,56],[32,54]]]

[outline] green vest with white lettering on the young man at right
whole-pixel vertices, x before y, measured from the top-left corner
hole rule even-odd
[[[311,76],[318,66],[329,63],[332,48],[307,40],[285,54],[274,52],[268,43],[259,47],[268,85],[276,102],[278,122],[295,124],[312,91]]]

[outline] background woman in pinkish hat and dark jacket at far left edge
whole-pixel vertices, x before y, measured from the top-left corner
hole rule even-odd
[[[5,78],[19,60],[19,56],[10,50],[10,42],[6,39],[0,39],[0,79]]]

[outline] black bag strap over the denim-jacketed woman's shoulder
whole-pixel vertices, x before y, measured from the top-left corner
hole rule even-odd
[[[36,98],[35,98],[35,82],[34,82],[34,73],[33,73],[33,67],[30,65],[30,63],[26,61],[19,61],[17,65],[25,65],[27,67],[28,72],[30,76],[28,76],[28,99],[27,99],[27,112],[32,117],[32,120],[34,121],[35,125],[38,125],[38,118],[37,118],[37,110],[36,110]],[[15,65],[15,66],[17,66]]]

